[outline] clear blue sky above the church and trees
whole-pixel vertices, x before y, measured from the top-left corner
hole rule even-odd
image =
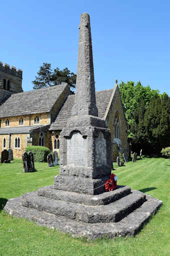
[[[138,81],[170,96],[170,2],[0,1],[0,61],[23,70],[32,89],[39,66],[51,63],[76,73],[78,25],[90,15],[96,90],[115,79]]]

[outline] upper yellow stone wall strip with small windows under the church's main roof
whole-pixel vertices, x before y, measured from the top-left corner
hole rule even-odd
[[[30,116],[30,117],[29,117]],[[34,118],[39,117],[39,123],[34,123]],[[19,125],[19,119],[23,118],[23,125]],[[30,118],[30,124],[29,124]],[[5,120],[9,120],[9,126],[5,126]],[[0,118],[1,128],[3,127],[16,127],[16,126],[28,126],[28,125],[38,125],[38,124],[50,124],[50,114],[49,113],[40,113],[40,114],[31,114],[31,115],[19,115],[19,116],[10,116]]]

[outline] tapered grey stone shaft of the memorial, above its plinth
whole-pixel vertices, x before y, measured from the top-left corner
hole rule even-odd
[[[98,116],[95,103],[91,29],[87,13],[81,14],[80,17],[76,94],[72,108],[72,115],[81,114]]]

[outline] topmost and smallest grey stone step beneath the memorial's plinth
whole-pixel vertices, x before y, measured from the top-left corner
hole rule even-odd
[[[113,191],[105,192],[99,195],[87,195],[64,190],[57,190],[54,189],[53,185],[38,189],[38,196],[44,196],[54,200],[62,200],[70,203],[85,205],[106,205],[129,194],[130,187],[128,186],[116,186],[116,189]]]

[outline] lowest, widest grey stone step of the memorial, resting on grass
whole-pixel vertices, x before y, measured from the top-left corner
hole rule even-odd
[[[147,201],[139,208],[119,222],[114,223],[91,224],[63,216],[56,218],[54,214],[23,207],[21,197],[9,199],[4,207],[4,211],[16,217],[35,221],[39,226],[46,226],[61,232],[70,233],[73,237],[85,237],[93,240],[97,237],[114,238],[116,236],[134,236],[162,205],[162,201],[151,196],[146,195],[146,199]]]

